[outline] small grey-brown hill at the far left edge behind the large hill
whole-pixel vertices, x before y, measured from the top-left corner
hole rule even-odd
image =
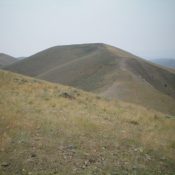
[[[4,54],[4,53],[0,53],[0,67],[12,64],[15,61],[17,61],[16,58],[14,58],[14,57],[12,57],[10,55]]]

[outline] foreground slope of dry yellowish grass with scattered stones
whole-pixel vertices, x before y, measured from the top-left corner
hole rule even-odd
[[[173,174],[175,121],[0,71],[0,174]]]

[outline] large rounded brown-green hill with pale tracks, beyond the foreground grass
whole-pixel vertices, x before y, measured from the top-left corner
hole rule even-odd
[[[175,114],[175,73],[105,44],[49,48],[6,69]]]

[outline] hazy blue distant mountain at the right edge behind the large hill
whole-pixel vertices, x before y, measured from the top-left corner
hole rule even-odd
[[[151,59],[150,61],[169,68],[175,68],[175,59],[173,58]]]

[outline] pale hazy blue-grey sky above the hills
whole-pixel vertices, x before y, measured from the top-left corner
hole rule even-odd
[[[93,42],[175,58],[175,0],[0,0],[0,52]]]

